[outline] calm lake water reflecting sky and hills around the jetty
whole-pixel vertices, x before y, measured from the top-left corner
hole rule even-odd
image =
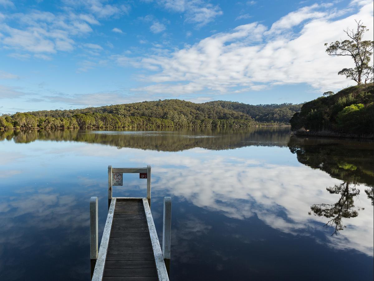
[[[373,149],[288,128],[0,132],[0,280],[89,280],[89,199],[101,234],[108,165],[147,164],[160,241],[172,197],[171,280],[373,280]]]

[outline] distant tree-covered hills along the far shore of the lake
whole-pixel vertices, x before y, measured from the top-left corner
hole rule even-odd
[[[301,105],[203,104],[159,100],[98,108],[34,111],[0,116],[0,129],[249,127],[289,124]]]

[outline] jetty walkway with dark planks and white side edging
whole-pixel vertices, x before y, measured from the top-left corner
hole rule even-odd
[[[169,280],[147,198],[111,199],[92,280]]]

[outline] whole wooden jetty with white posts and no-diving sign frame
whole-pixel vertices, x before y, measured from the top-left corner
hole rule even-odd
[[[147,179],[147,197],[112,197],[112,187],[122,185],[123,173]],[[114,181],[114,182],[113,182]],[[114,186],[115,186],[114,185]],[[151,167],[108,167],[107,221],[98,250],[98,199],[90,201],[92,281],[169,280],[171,198],[164,197],[161,250],[150,210]]]

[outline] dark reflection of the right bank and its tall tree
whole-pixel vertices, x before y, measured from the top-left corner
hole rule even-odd
[[[360,193],[356,185],[365,184],[369,188],[365,189],[368,199],[373,205],[373,185],[374,185],[374,161],[373,143],[359,142],[359,149],[353,149],[354,141],[334,140],[334,139],[309,139],[291,137],[288,147],[292,153],[297,155],[297,160],[313,169],[320,169],[333,178],[343,181],[334,187],[327,187],[331,194],[340,194],[339,200],[334,204],[313,204],[309,212],[318,216],[331,218],[324,226],[332,226],[335,231],[332,235],[337,235],[343,230],[342,219],[354,218],[358,216],[360,208],[355,208],[354,199]]]

